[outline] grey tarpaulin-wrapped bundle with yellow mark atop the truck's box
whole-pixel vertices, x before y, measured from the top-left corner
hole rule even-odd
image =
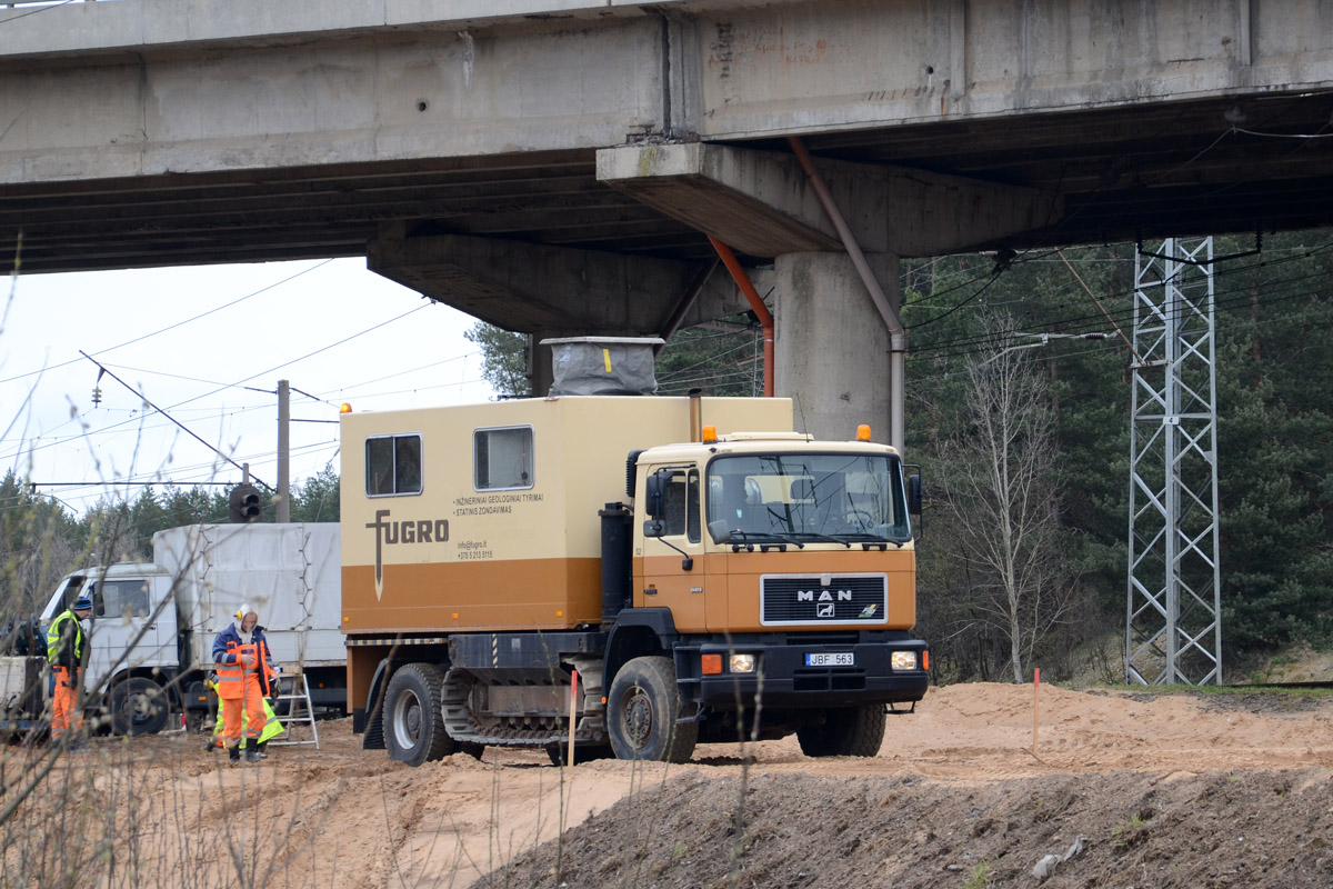
[[[624,336],[543,340],[555,376],[549,395],[657,395],[653,347],[663,343]]]

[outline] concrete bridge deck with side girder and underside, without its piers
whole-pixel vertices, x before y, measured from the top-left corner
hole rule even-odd
[[[1330,221],[1318,0],[101,0],[0,9],[0,255],[363,255],[385,232],[702,257],[596,179],[670,140],[1036,189],[901,253]]]

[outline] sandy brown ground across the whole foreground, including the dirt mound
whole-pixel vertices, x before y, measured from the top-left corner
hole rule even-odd
[[[201,736],[101,738],[60,760],[0,825],[0,884],[63,885],[76,869],[80,886],[461,888],[492,874],[495,886],[980,889],[1037,885],[1032,866],[1082,836],[1086,850],[1048,885],[1329,886],[1330,717],[1324,697],[1042,686],[1038,705],[1030,685],[976,684],[932,689],[914,714],[890,717],[868,760],[809,760],[788,738],[700,746],[672,766],[561,769],[540,750],[491,749],[412,769],[363,750],[348,720],[321,722],[319,749],[273,748],[241,766],[207,753]],[[4,800],[36,756],[5,752]],[[1296,810],[1300,824],[1286,817]],[[1256,877],[1254,840],[1233,844],[1234,866],[1205,848],[1209,816],[1281,846],[1264,854],[1282,858],[1270,869],[1286,882]],[[77,852],[59,840],[71,830],[84,837]],[[842,848],[838,837],[861,832]],[[956,834],[961,845],[941,840]],[[1173,852],[1122,873],[1150,840]],[[1165,876],[1144,882],[1149,865]]]

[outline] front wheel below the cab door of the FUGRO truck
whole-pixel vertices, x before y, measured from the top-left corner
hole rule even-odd
[[[617,758],[688,762],[698,724],[681,725],[678,716],[676,665],[669,657],[636,657],[616,673],[607,698],[607,733]]]

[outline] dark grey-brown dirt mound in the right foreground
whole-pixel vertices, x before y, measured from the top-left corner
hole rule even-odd
[[[479,885],[1328,886],[1328,769],[948,781],[678,776]],[[1045,881],[1033,868],[1046,856]]]

